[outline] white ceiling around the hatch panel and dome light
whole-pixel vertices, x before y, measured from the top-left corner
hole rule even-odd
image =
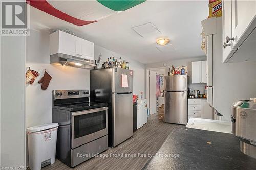
[[[145,64],[205,56],[201,50],[200,21],[208,16],[208,1],[146,1],[81,27],[33,7],[30,13],[33,28],[66,28],[96,45]],[[148,22],[153,22],[161,34],[148,34],[143,38],[131,29]],[[155,41],[160,37],[170,38],[175,50],[158,50]]]

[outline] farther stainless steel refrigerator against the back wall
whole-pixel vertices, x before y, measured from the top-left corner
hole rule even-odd
[[[187,124],[187,91],[189,76],[164,76],[164,121]]]

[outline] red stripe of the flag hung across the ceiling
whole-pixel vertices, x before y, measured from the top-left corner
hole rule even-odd
[[[95,21],[86,21],[86,20],[74,18],[74,17],[54,8],[46,0],[26,0],[26,2],[27,2],[27,4],[31,5],[32,7],[35,7],[41,11],[44,11],[52,16],[55,16],[62,20],[65,20],[69,23],[73,23],[74,25],[77,25],[77,26],[83,26],[83,25],[97,22],[96,20]]]

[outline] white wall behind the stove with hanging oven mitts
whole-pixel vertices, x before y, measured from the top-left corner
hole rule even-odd
[[[49,64],[49,34],[31,30],[26,40],[26,67],[40,74],[26,86],[26,127],[52,122],[52,90],[90,89],[90,70]],[[44,69],[52,77],[46,90],[38,84]]]

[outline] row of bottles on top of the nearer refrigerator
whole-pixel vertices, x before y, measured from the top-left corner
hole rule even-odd
[[[123,68],[123,69],[129,69],[129,62],[125,62],[125,60],[121,60],[121,57],[119,60],[115,59],[115,57],[110,57],[106,62],[102,64],[102,68]]]

